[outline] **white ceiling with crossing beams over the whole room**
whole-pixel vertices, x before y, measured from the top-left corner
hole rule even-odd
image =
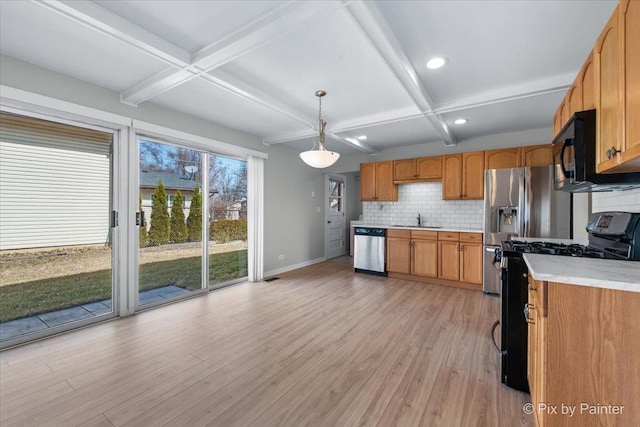
[[[296,150],[323,89],[327,147],[375,153],[550,127],[616,4],[0,1],[0,53]]]

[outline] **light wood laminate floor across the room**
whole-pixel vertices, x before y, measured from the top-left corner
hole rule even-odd
[[[324,262],[0,353],[0,425],[517,426],[477,291]]]

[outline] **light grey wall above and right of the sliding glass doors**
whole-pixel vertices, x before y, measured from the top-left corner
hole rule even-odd
[[[268,153],[265,161],[264,269],[271,271],[324,256],[324,173],[304,166],[295,150],[271,148],[258,136],[145,102],[130,107],[119,94],[0,56],[0,84],[120,114]],[[311,191],[316,198],[312,199]],[[321,208],[316,213],[316,207]],[[278,255],[285,255],[284,261]]]

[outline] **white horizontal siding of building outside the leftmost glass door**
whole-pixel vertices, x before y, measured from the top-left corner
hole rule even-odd
[[[108,133],[3,115],[0,250],[108,244],[111,140]]]

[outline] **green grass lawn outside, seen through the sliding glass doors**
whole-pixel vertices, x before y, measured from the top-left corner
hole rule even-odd
[[[140,266],[140,290],[175,285],[200,289],[201,257],[160,261]],[[209,256],[210,284],[247,275],[247,251]],[[0,287],[0,322],[33,316],[94,301],[111,299],[111,270],[37,280]]]

